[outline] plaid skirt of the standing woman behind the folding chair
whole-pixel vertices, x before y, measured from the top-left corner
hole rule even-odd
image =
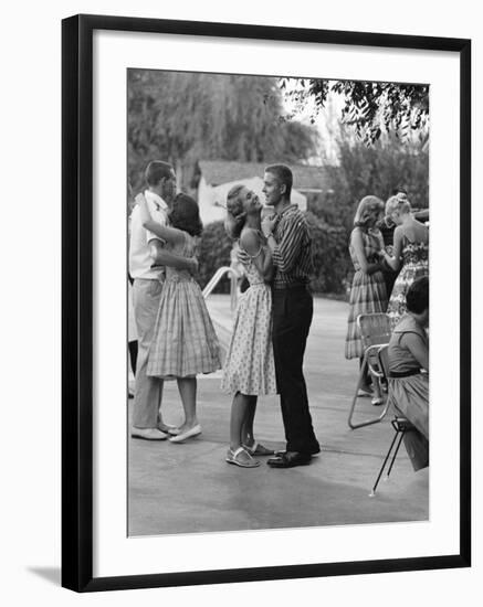
[[[386,283],[381,271],[366,274],[358,269],[354,275],[349,297],[349,318],[347,321],[346,359],[360,358],[364,354],[363,342],[357,327],[359,315],[386,312],[388,305]]]

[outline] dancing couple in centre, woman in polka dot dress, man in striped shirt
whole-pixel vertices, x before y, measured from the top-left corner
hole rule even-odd
[[[239,259],[249,289],[241,296],[223,369],[222,388],[233,394],[227,461],[260,466],[256,456],[275,455],[272,468],[307,465],[321,448],[315,437],[303,375],[313,317],[309,290],[312,242],[304,215],[291,204],[288,167],[265,169],[263,193],[274,214],[261,221],[254,192],[235,185],[227,199],[227,232],[239,239]],[[256,443],[253,419],[258,396],[280,394],[286,450]],[[255,457],[254,457],[255,456]]]

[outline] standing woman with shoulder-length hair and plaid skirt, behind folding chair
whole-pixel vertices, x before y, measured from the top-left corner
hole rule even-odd
[[[379,260],[382,235],[376,224],[382,219],[384,203],[377,196],[365,196],[357,207],[354,217],[354,230],[350,234],[349,253],[356,273],[349,297],[349,318],[347,323],[346,359],[359,358],[360,364],[364,348],[357,328],[357,317],[365,313],[386,312],[387,294]],[[376,384],[375,384],[376,387]],[[371,394],[369,376],[366,374],[361,390]],[[376,394],[374,404],[379,404]]]

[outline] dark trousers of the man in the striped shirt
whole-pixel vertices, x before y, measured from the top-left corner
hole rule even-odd
[[[273,289],[273,353],[287,451],[318,452],[303,374],[314,303],[305,287]]]

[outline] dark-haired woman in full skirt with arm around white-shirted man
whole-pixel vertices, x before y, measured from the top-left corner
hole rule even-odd
[[[169,226],[151,220],[146,200],[141,196],[138,200],[144,227],[162,238],[174,253],[192,257],[202,230],[195,200],[186,194],[176,196]],[[201,434],[196,411],[196,376],[217,369],[221,369],[220,345],[200,286],[187,270],[166,267],[147,374],[178,382],[185,423],[169,430],[174,435],[171,443]]]

